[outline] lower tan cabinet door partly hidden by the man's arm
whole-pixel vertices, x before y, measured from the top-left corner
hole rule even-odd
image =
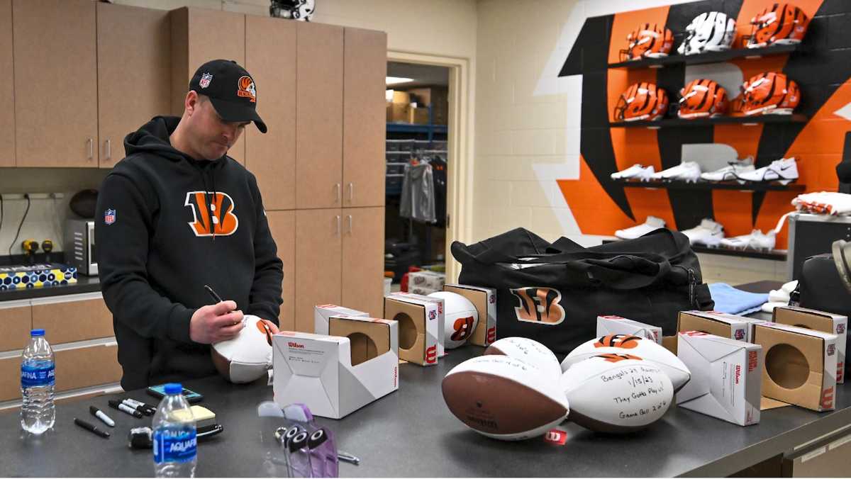
[[[295,329],[295,212],[266,210],[277,257],[283,261],[283,305],[277,316],[281,330]]]

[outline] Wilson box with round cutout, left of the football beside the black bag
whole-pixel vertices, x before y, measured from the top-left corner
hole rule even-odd
[[[386,296],[384,316],[398,322],[399,358],[420,366],[437,364],[438,303],[406,297]]]

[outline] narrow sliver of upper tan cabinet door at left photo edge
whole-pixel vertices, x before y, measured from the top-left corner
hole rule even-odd
[[[12,0],[0,0],[0,167],[14,166]]]

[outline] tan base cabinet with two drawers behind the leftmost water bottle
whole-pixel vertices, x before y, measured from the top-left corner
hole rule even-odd
[[[20,356],[30,329],[54,349],[56,398],[121,391],[112,315],[100,293],[0,302],[0,411],[20,407]]]

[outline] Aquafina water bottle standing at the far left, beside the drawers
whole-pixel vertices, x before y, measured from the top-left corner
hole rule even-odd
[[[53,427],[56,420],[54,406],[54,354],[43,329],[30,332],[30,344],[24,349],[20,362],[20,427],[39,435]]]

